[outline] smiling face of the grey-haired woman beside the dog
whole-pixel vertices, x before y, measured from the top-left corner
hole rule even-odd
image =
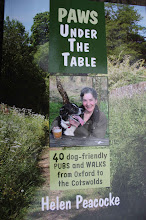
[[[92,113],[94,111],[95,105],[97,104],[97,99],[93,97],[91,93],[85,93],[83,96],[83,106],[85,109]]]

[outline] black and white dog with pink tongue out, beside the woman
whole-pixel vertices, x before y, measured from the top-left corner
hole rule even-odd
[[[79,108],[74,103],[68,103],[62,106],[60,109],[60,115],[58,117],[58,125],[63,129],[63,134],[68,136],[74,136],[74,131],[76,130],[76,126],[70,124],[70,119],[79,122],[82,126],[84,124],[83,119],[83,109]]]

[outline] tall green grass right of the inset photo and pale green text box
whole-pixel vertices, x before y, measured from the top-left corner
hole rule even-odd
[[[113,189],[117,187],[118,191],[122,191],[126,187],[127,193],[133,193],[134,189],[141,196],[146,192],[145,98],[145,95],[139,95],[131,99],[111,100],[109,127],[110,139],[118,143],[111,146]]]

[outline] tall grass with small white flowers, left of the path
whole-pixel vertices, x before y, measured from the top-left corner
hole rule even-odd
[[[0,105],[1,218],[22,219],[42,183],[38,159],[48,132],[47,120],[26,109]]]

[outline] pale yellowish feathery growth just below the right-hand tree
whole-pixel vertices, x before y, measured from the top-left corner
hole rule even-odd
[[[115,89],[122,86],[143,82],[146,78],[145,60],[137,60],[131,64],[131,57],[125,56],[120,61],[119,58],[110,56],[108,58],[108,83],[109,89]]]

